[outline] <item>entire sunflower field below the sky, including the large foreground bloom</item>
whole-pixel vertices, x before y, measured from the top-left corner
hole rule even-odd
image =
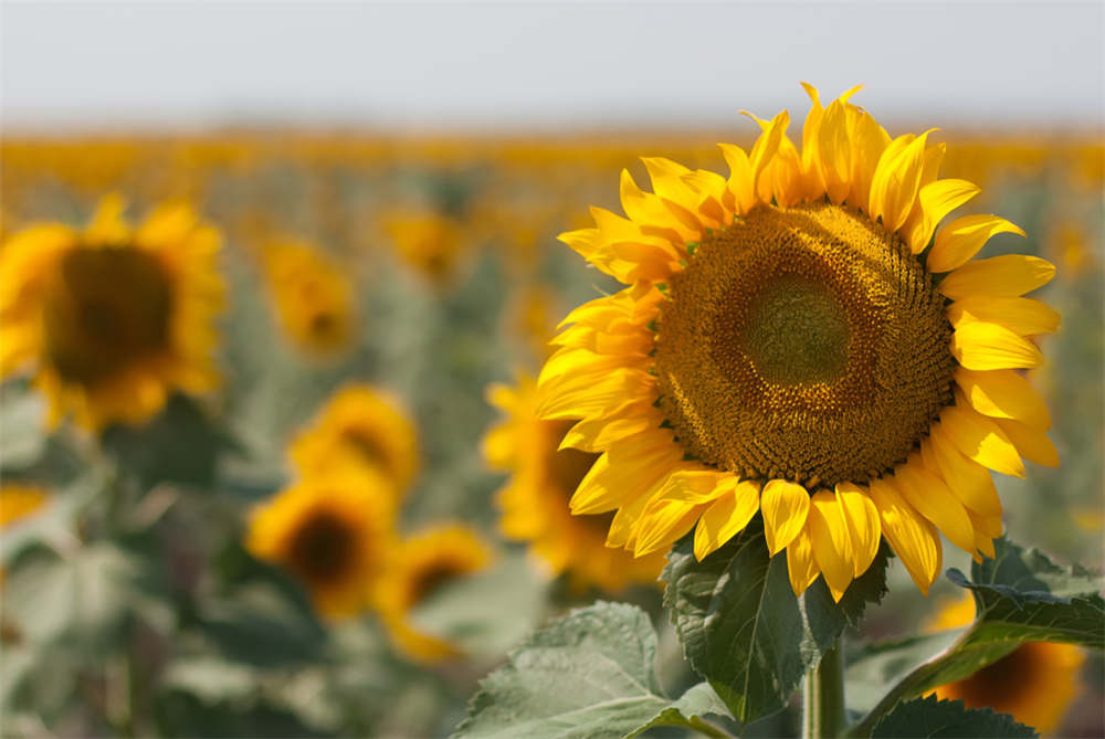
[[[6,136],[0,735],[1105,735],[1105,141],[808,93]]]

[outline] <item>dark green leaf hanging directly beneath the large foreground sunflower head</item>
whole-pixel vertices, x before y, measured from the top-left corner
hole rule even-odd
[[[664,603],[694,668],[743,722],[782,710],[806,671],[818,664],[867,602],[886,592],[886,551],[852,583],[840,603],[822,580],[794,598],[786,556],[768,557],[757,518],[697,561],[692,538],[669,557]]]

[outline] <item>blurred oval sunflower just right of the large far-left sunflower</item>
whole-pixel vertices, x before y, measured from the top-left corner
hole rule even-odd
[[[281,326],[295,346],[319,357],[347,349],[355,316],[346,273],[319,250],[297,241],[267,244],[263,262]]]

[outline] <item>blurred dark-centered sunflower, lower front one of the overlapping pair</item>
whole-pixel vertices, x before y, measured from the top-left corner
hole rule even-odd
[[[392,549],[389,494],[368,471],[304,479],[252,511],[245,548],[295,576],[323,615],[355,615],[371,604]]]

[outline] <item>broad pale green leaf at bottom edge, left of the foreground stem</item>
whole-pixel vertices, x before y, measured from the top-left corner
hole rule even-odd
[[[665,698],[655,656],[656,633],[641,609],[599,602],[572,611],[532,634],[481,682],[454,736],[615,739],[724,712],[705,685]]]

